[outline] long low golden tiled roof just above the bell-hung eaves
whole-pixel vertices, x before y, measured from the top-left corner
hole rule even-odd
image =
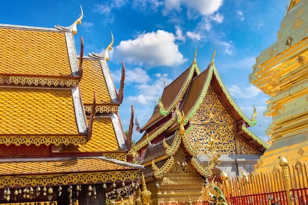
[[[133,169],[131,166],[96,158],[73,158],[64,160],[0,162],[0,176],[43,175],[55,173],[104,172]]]

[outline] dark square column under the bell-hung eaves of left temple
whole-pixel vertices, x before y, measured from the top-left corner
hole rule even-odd
[[[91,196],[89,195],[89,185],[81,186],[81,193],[79,195],[79,205],[106,205],[106,189],[101,184],[96,184],[96,199],[94,198],[93,191]],[[93,188],[93,187],[92,187]]]

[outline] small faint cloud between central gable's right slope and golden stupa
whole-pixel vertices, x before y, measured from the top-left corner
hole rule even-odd
[[[241,89],[238,86],[233,85],[228,90],[232,97],[244,98],[244,99],[256,97],[262,92],[260,89],[256,88],[255,86],[248,86],[244,89]]]

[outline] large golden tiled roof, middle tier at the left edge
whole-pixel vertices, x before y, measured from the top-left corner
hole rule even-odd
[[[78,134],[70,89],[0,88],[0,135]]]

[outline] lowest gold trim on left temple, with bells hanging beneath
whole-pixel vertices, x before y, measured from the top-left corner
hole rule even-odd
[[[0,177],[0,188],[9,186],[48,186],[48,185],[67,185],[67,184],[88,184],[107,181],[125,181],[134,180],[139,177],[138,170],[136,171],[121,171],[121,172],[94,172],[94,173],[69,173],[57,175],[31,175],[31,176],[2,176]]]

